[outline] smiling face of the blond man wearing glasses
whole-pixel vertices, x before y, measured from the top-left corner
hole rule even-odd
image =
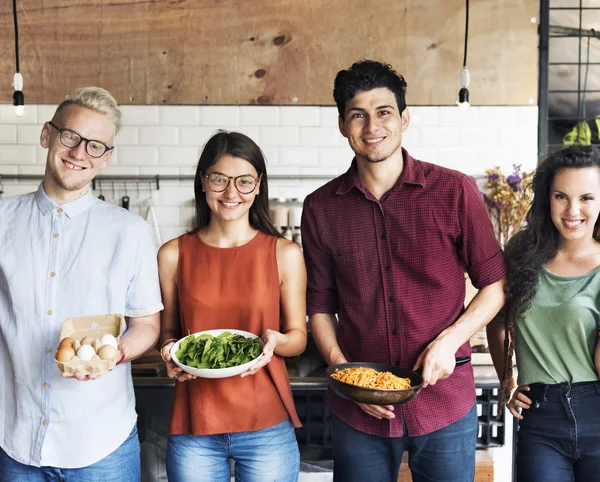
[[[107,146],[113,145],[115,127],[99,112],[69,105],[55,119],[54,123],[62,129],[70,129],[81,137],[100,141]],[[113,151],[99,158],[86,152],[85,141],[77,147],[65,147],[60,141],[58,130],[44,124],[40,144],[48,149],[44,190],[55,200],[71,200],[85,194],[96,175],[106,168]]]

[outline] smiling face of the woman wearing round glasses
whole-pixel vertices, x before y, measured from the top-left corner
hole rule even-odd
[[[204,174],[218,172],[236,178],[250,174],[258,179],[258,172],[252,164],[241,157],[234,157],[229,154],[222,156],[215,164],[207,169]],[[235,187],[233,179],[230,179],[227,189],[223,192],[215,192],[211,189],[206,177],[202,180],[202,190],[206,194],[206,202],[211,210],[211,218],[226,222],[237,221],[242,218],[248,220],[250,208],[260,192],[260,180],[254,191],[250,194],[240,194]]]

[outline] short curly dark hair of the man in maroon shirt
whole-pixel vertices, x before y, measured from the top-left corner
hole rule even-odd
[[[400,113],[406,109],[406,81],[390,64],[375,60],[355,62],[348,70],[340,70],[335,76],[333,98],[342,120],[346,114],[346,102],[357,92],[387,87],[396,96]]]

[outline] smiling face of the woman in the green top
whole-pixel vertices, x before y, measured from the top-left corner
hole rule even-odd
[[[592,239],[600,214],[600,169],[565,168],[550,187],[550,215],[563,242]]]

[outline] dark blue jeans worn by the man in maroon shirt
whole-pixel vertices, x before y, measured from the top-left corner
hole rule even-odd
[[[409,437],[377,437],[333,416],[334,482],[396,482],[402,453],[414,482],[473,482],[477,443],[477,406],[435,432]]]

